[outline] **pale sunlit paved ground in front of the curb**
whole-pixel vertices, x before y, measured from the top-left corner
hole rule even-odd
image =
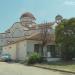
[[[73,74],[49,71],[30,66],[23,66],[18,63],[0,62],[0,75],[73,75]]]

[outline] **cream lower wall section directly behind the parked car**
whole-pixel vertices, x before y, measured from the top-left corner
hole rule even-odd
[[[16,44],[8,45],[3,47],[2,54],[10,54],[11,59],[16,59]]]

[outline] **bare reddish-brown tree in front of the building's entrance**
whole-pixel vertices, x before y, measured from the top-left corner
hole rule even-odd
[[[51,30],[51,25],[48,24],[48,23],[44,23],[41,25],[41,28],[40,28],[40,33],[41,33],[41,54],[43,55],[43,49],[44,47],[49,43],[49,41],[51,40],[51,37],[50,37],[50,30]]]

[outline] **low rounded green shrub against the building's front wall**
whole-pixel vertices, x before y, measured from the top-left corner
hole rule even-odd
[[[35,64],[35,63],[41,63],[41,62],[42,62],[42,58],[37,53],[32,53],[27,60],[27,64]]]

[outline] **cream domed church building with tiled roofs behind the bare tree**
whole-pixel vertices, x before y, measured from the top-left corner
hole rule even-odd
[[[13,60],[25,60],[33,52],[43,54],[50,60],[58,60],[55,56],[54,23],[36,24],[36,18],[29,12],[22,14],[20,22],[16,22],[5,33],[0,34],[2,54],[10,54]],[[42,51],[42,28],[48,28],[47,44]],[[52,28],[53,26],[53,28]],[[52,58],[54,57],[54,58]]]

